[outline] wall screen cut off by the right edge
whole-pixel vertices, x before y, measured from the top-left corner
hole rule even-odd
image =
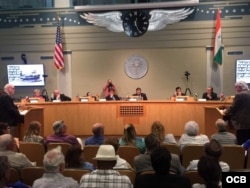
[[[250,59],[236,61],[236,82],[244,81],[250,84]]]

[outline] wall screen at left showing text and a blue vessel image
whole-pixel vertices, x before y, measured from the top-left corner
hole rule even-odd
[[[43,64],[7,65],[8,83],[14,86],[44,86]]]

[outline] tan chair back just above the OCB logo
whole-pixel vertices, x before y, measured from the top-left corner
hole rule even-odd
[[[245,149],[240,145],[223,145],[220,161],[226,162],[230,170],[243,169],[245,165]]]

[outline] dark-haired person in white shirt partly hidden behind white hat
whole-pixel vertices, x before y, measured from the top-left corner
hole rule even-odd
[[[125,159],[120,158],[120,156],[117,154],[118,149],[119,149],[119,140],[117,138],[115,138],[115,137],[107,138],[105,140],[104,144],[105,145],[112,145],[115,149],[116,164],[113,167],[113,169],[131,169],[132,168]]]

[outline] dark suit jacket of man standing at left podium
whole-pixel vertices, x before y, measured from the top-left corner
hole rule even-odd
[[[13,99],[5,92],[0,94],[0,121],[8,123],[9,126],[17,126],[23,122],[23,116],[20,115]]]

